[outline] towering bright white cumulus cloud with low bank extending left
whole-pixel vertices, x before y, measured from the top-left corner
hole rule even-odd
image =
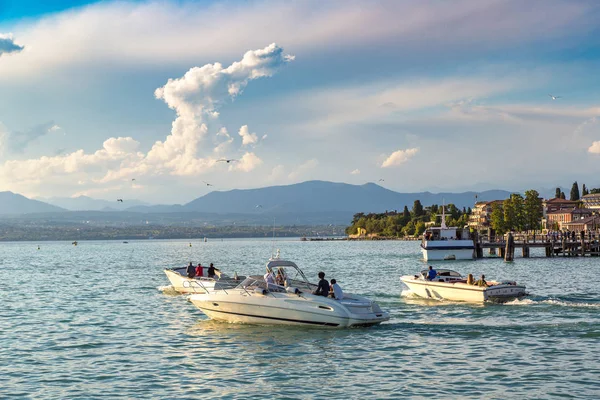
[[[156,97],[163,99],[177,116],[171,133],[164,141],[155,142],[147,154],[137,151],[140,143],[131,137],[112,137],[104,141],[102,149],[92,154],[77,150],[54,157],[6,161],[0,166],[0,183],[11,182],[12,186],[26,187],[24,192],[33,193],[34,189],[30,186],[47,183],[48,178],[54,181],[65,176],[69,176],[71,181],[97,185],[123,181],[132,176],[204,173],[216,165],[216,159],[210,155],[202,158],[200,153],[218,153],[233,141],[227,130],[222,128],[217,136],[225,137],[225,142],[212,150],[203,149],[201,144],[208,131],[207,119],[213,119],[215,109],[238,96],[249,81],[271,76],[287,62],[283,50],[271,44],[264,49],[246,52],[241,61],[227,68],[219,63],[192,68],[182,78],[169,79],[165,86],[156,90]],[[44,126],[43,132],[55,131],[55,126]],[[246,144],[258,140],[255,134],[247,132],[247,126],[245,132],[246,135],[242,136]],[[239,162],[230,166],[230,170],[249,172],[260,164],[260,157],[246,152]],[[97,190],[101,192],[102,188]]]

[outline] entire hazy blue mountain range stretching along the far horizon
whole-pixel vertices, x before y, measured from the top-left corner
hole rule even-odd
[[[0,193],[0,214],[41,214],[40,218],[58,220],[77,217],[97,220],[106,216],[107,220],[123,220],[127,223],[137,220],[210,220],[211,223],[236,219],[240,223],[270,224],[273,218],[278,223],[347,224],[357,212],[401,211],[404,206],[412,208],[419,199],[424,206],[450,204],[458,207],[472,207],[477,200],[504,199],[510,192],[487,190],[484,192],[463,193],[398,193],[374,183],[350,185],[325,181],[308,181],[286,186],[271,186],[259,189],[235,189],[215,191],[184,205],[145,205],[139,200],[114,202],[81,196],[77,198],[48,199],[42,201],[28,199],[11,192]],[[59,207],[60,206],[60,207]],[[101,213],[98,213],[101,211]],[[48,215],[61,213],[68,215]],[[109,215],[110,214],[110,215]],[[143,214],[143,215],[140,215]],[[28,218],[35,218],[31,215]]]

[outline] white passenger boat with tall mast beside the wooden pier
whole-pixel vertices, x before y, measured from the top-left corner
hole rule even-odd
[[[425,230],[421,242],[421,252],[425,261],[473,260],[475,245],[469,239],[468,231],[446,226],[446,213],[442,206],[442,223],[439,227]]]

